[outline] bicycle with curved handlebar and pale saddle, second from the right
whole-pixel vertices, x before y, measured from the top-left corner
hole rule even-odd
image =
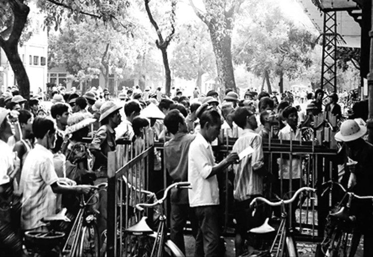
[[[303,191],[310,191],[314,193],[316,190],[313,188],[303,187],[303,188],[298,189],[290,199],[288,200],[281,199],[278,202],[271,202],[264,197],[256,197],[251,201],[250,207],[253,207],[254,205],[256,206],[258,201],[262,201],[273,207],[281,206],[280,227],[277,230],[275,239],[272,242],[270,250],[267,251],[267,255],[271,257],[297,257],[298,256],[298,252],[296,250],[296,243],[293,237],[293,232],[292,230],[289,229],[288,219],[286,218],[287,213],[285,210],[285,204],[292,203],[298,197],[298,195],[302,193]],[[254,233],[254,234],[266,234],[266,233],[276,231],[275,228],[273,228],[272,226],[268,224],[268,222],[269,222],[269,218],[265,220],[262,226],[252,228],[249,230],[249,232]]]

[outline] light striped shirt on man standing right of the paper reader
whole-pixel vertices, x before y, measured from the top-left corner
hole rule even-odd
[[[263,193],[263,178],[255,172],[264,165],[262,137],[246,128],[234,143],[232,152],[240,153],[248,146],[251,146],[254,152],[233,166],[235,175],[233,196],[238,201],[249,199],[254,194]]]

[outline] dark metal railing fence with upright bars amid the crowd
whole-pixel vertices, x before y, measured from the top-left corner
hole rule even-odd
[[[274,199],[274,193],[282,197],[288,193],[291,197],[296,188],[308,186],[318,188],[330,180],[337,179],[338,170],[333,163],[335,149],[315,143],[314,130],[310,129],[309,136],[297,140],[263,139],[265,165],[268,171],[277,178],[271,184],[266,197]],[[136,203],[143,202],[142,191],[154,188],[164,189],[169,184],[169,176],[165,170],[163,158],[163,143],[154,142],[153,130],[147,130],[144,138],[138,141],[123,141],[117,146],[116,151],[108,154],[108,191],[107,191],[107,254],[108,256],[126,256],[128,241],[124,238],[123,229],[134,224],[133,207]],[[213,147],[217,160],[228,154],[237,138],[229,138],[226,131],[221,132],[219,144]],[[306,139],[306,140],[304,140]],[[156,151],[160,151],[162,170],[158,172],[159,180],[154,178],[154,159]],[[283,160],[289,160],[289,183],[282,177]],[[299,185],[292,185],[292,160],[297,158],[301,164],[301,180]],[[233,181],[232,173],[226,172],[220,178],[219,187],[225,188],[221,195],[222,227],[225,234],[233,230]],[[154,185],[154,184],[157,185]],[[286,186],[287,187],[284,187]],[[296,207],[296,223],[305,240],[313,241],[323,235],[325,218],[329,207],[332,205],[331,195],[321,198],[320,191],[315,197],[301,199],[302,204]],[[289,206],[288,212],[291,213]],[[168,213],[167,204],[165,213]]]

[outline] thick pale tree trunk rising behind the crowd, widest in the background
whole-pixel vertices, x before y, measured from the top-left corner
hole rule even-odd
[[[209,26],[209,31],[220,85],[226,89],[231,88],[236,91],[231,54],[231,37],[230,35],[222,37],[221,32],[216,31],[213,24]]]

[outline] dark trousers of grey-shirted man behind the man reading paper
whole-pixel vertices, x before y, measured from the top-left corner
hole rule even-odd
[[[184,254],[185,243],[183,230],[187,223],[187,219],[190,220],[192,235],[195,238],[197,234],[197,228],[193,209],[189,206],[189,204],[171,203],[170,238]]]

